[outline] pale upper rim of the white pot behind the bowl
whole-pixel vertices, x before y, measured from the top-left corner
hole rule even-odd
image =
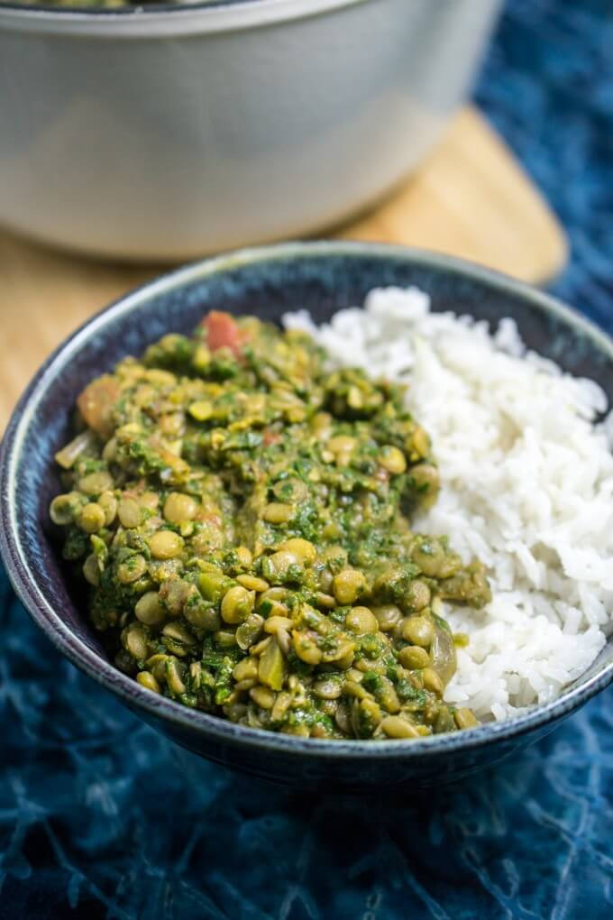
[[[334,13],[372,0],[196,0],[151,6],[36,6],[0,0],[0,29],[137,39],[152,36],[233,32]]]

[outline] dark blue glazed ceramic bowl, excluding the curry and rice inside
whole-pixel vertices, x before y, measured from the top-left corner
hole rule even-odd
[[[435,310],[496,322],[513,316],[528,345],[613,400],[613,342],[568,307],[457,259],[347,243],[246,250],[178,270],[124,297],[67,339],[36,374],[10,421],[0,455],[0,549],[28,612],[54,645],[142,719],[203,757],[305,787],[364,790],[455,779],[536,741],[613,680],[613,641],[548,706],[518,719],[420,742],[326,742],[252,730],[156,696],[107,660],[66,583],[48,528],[58,490],[53,454],[70,434],[74,400],[96,374],[168,331],[189,331],[210,308],[277,320],[308,307],[315,320],[361,304],[380,285],[416,284]]]

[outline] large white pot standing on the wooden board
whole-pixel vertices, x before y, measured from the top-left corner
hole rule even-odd
[[[335,224],[437,139],[499,5],[0,4],[0,224],[124,259]]]

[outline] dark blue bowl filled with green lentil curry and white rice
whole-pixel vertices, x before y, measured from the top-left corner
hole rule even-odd
[[[337,316],[316,328],[304,308],[315,323]],[[504,317],[573,377],[526,357]],[[611,587],[594,560],[581,572],[558,544],[554,558],[552,537],[530,550],[535,575],[526,547],[486,519],[487,496],[475,504],[493,483],[471,428],[491,433],[494,412],[515,411],[509,392],[500,405],[469,392],[471,374],[494,390],[483,349],[495,386],[529,382],[533,415],[541,390],[574,401],[559,424],[585,433],[599,465],[583,498],[610,502],[598,417],[610,344],[516,282],[404,249],[307,244],[129,295],[51,358],[7,432],[3,554],[17,592],[75,663],[222,763],[366,788],[500,759],[610,681]],[[597,386],[576,379],[588,373]],[[498,433],[510,468],[519,447]],[[469,442],[472,477],[459,460]]]

